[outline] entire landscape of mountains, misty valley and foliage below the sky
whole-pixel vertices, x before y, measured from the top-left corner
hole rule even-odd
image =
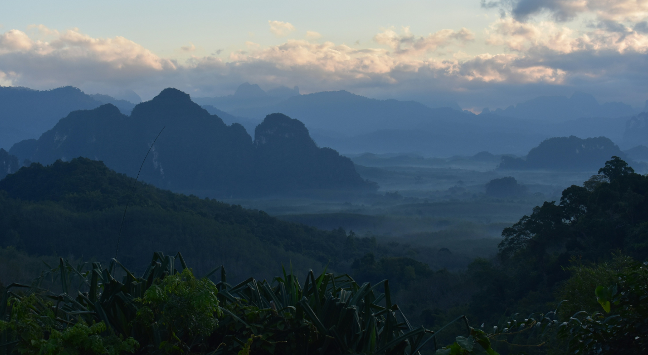
[[[648,352],[648,100],[128,95],[0,87],[3,353]]]

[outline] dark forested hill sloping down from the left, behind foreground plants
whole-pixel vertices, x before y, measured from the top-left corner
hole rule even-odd
[[[32,255],[85,260],[115,257],[134,179],[100,161],[33,163],[0,181],[0,242]],[[174,194],[137,183],[126,213],[119,259],[140,267],[153,251],[181,251],[197,271],[227,265],[234,275],[348,267],[375,251],[375,240],[283,222],[262,211]]]

